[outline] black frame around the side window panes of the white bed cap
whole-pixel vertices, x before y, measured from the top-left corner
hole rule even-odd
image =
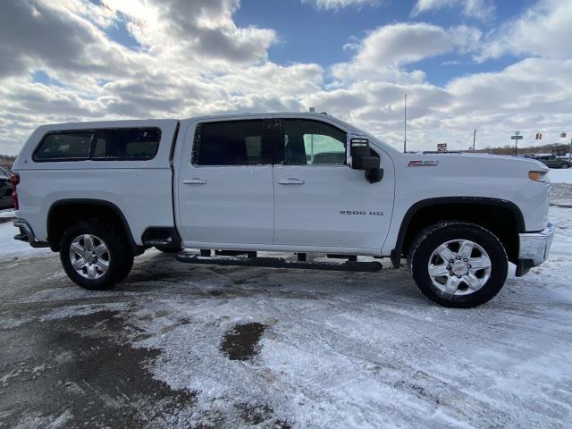
[[[124,131],[124,130],[156,130],[158,132],[158,140],[155,147],[155,153],[151,157],[147,156],[138,156],[138,157],[113,157],[113,158],[103,158],[103,157],[94,157],[93,152],[95,150],[95,137],[97,132],[99,131]],[[51,135],[57,134],[76,134],[76,133],[91,133],[91,139],[89,141],[89,150],[88,156],[85,158],[39,158],[37,157],[40,147],[44,141]],[[159,147],[161,146],[161,139],[163,138],[163,132],[159,127],[114,127],[114,128],[92,128],[92,129],[78,129],[78,130],[52,130],[47,131],[46,134],[39,140],[38,145],[34,149],[32,153],[32,161],[34,163],[65,163],[65,162],[73,162],[73,161],[151,161],[155,159],[157,154],[159,153]]]

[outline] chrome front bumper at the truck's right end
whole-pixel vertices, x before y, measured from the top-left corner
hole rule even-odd
[[[547,223],[543,231],[518,234],[517,277],[528,273],[533,266],[541,265],[549,256],[554,225]]]

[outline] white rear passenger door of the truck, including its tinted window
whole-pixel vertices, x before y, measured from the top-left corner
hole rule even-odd
[[[271,117],[191,123],[175,175],[187,247],[272,244]]]

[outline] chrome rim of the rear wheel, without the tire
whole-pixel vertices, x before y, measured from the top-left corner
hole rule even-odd
[[[95,235],[83,234],[71,241],[71,266],[80,276],[97,280],[109,269],[109,249]]]

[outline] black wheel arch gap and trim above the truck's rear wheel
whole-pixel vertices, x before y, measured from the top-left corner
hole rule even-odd
[[[47,213],[47,238],[50,248],[59,250],[63,232],[72,223],[88,218],[103,218],[114,222],[122,228],[122,232],[130,242],[134,255],[140,255],[145,248],[139,246],[130,230],[129,223],[122,210],[110,201],[94,198],[66,198],[52,203]]]

